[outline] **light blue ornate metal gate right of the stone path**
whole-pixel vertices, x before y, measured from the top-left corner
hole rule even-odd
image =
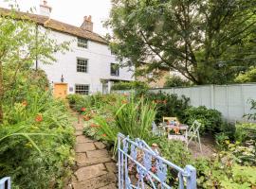
[[[129,139],[119,133],[119,189],[196,188],[196,170],[192,165],[181,168],[162,158],[143,140]],[[170,180],[170,176],[178,178]]]

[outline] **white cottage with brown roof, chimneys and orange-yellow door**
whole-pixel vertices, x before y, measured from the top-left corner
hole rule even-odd
[[[40,5],[40,15],[27,14],[39,26],[50,29],[50,38],[57,42],[71,42],[71,51],[56,53],[57,62],[36,67],[46,71],[55,96],[66,94],[109,93],[115,81],[134,80],[131,68],[117,68],[115,55],[99,34],[93,32],[91,16],[85,16],[82,26],[71,26],[50,18],[51,8],[46,1]]]

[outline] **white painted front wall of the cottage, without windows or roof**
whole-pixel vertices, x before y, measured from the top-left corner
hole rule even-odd
[[[58,43],[71,42],[70,52],[56,53],[57,62],[51,65],[39,62],[39,68],[46,71],[50,83],[60,83],[62,75],[64,83],[68,84],[68,94],[75,92],[75,84],[88,84],[90,93],[102,92],[101,78],[134,80],[133,72],[129,68],[119,68],[119,77],[110,75],[110,64],[116,62],[114,55],[107,45],[88,42],[88,48],[77,46],[77,37],[57,31],[51,31],[50,38],[56,39]],[[77,58],[88,60],[88,73],[77,72]],[[73,88],[73,91],[69,90]]]

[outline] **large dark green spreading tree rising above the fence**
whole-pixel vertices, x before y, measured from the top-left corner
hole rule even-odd
[[[227,83],[255,64],[255,0],[113,0],[113,52],[137,75],[179,72],[195,84]],[[142,67],[143,65],[143,67]],[[144,66],[147,65],[147,66]]]

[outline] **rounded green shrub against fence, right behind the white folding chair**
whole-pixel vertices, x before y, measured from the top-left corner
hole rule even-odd
[[[184,112],[184,122],[189,126],[192,125],[194,120],[198,120],[202,126],[200,133],[205,132],[218,132],[222,129],[223,121],[221,112],[216,110],[207,109],[205,106],[191,107]]]

